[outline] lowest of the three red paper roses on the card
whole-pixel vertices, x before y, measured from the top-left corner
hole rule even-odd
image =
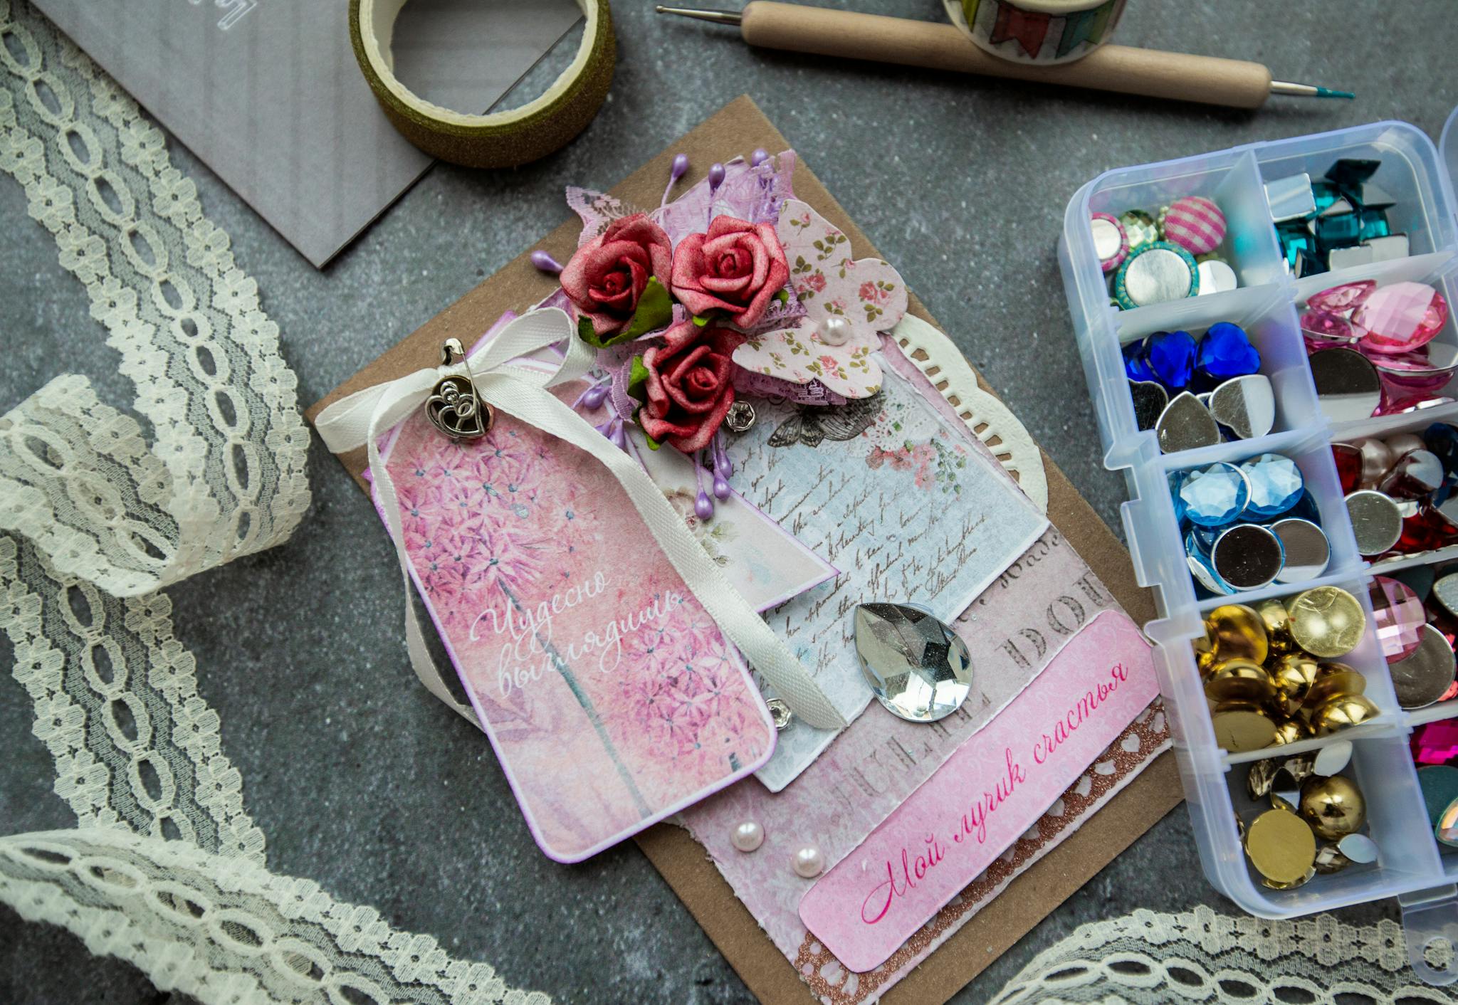
[[[723,219],[723,217],[720,217]],[[693,321],[674,325],[643,353],[647,400],[639,424],[684,454],[709,445],[733,404],[733,350],[744,335]]]

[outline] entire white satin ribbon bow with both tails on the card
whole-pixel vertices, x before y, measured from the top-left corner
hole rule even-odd
[[[512,360],[563,340],[567,343],[567,356],[555,372],[547,373],[510,365]],[[749,665],[760,671],[774,693],[784,699],[806,725],[818,729],[844,726],[846,719],[825,697],[815,678],[795,658],[789,646],[770,630],[764,618],[729,585],[723,572],[684,525],[682,516],[663,497],[647,473],[593,429],[586,419],[548,391],[557,384],[585,375],[593,359],[592,349],[574,337],[572,319],[564,311],[539,308],[510,321],[500,334],[471,357],[469,368],[461,362],[416,370],[398,381],[357,391],[319,413],[315,427],[330,451],[343,454],[360,445],[369,448],[369,470],[383,503],[389,537],[395,543],[395,554],[399,557],[399,570],[405,582],[405,643],[416,675],[432,694],[471,722],[477,721],[469,706],[461,705],[451,696],[430,651],[426,648],[424,635],[416,618],[416,608],[410,602],[410,566],[399,519],[399,500],[395,496],[389,471],[379,455],[381,435],[424,406],[426,398],[430,397],[442,378],[467,376],[475,384],[481,401],[519,422],[579,446],[601,461],[627,492],[633,506],[653,534],[653,540],[658,541],[688,589],[713,617],[725,639],[739,648]]]

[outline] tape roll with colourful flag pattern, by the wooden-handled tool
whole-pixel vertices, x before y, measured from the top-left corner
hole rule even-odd
[[[1114,34],[1124,0],[943,0],[952,23],[1013,63],[1072,63]]]

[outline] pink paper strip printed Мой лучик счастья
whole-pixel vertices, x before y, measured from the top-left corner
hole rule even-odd
[[[1155,696],[1149,643],[1104,611],[800,899],[844,966],[885,963],[1053,805]]]

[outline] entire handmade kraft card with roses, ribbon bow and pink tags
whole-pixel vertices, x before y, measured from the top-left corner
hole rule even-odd
[[[567,203],[321,433],[548,855],[636,833],[761,1001],[942,1001],[1178,801],[1127,556],[748,99]]]

